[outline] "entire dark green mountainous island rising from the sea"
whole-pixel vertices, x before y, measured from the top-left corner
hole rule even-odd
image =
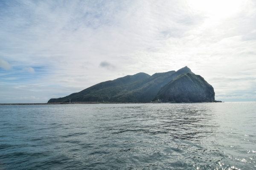
[[[188,75],[184,77],[182,76],[183,74]],[[192,90],[204,93],[198,94],[199,98],[203,97],[203,99],[197,99],[195,101],[214,102],[215,93],[213,88],[209,89],[209,91],[200,91],[200,88],[208,87],[209,84],[205,80],[203,81],[202,77],[200,78],[198,76],[199,75],[195,75],[187,66],[179,69],[178,71],[155,73],[152,76],[141,72],[134,75],[120,77],[118,79],[109,80],[106,82],[100,82],[80,92],[73,93],[58,99],[50,99],[48,103],[70,102],[70,99],[72,102],[151,102],[152,100],[157,99],[157,96],[161,96],[162,98],[163,96],[165,96],[165,101],[169,101],[169,98],[167,97],[168,95],[166,94],[167,92],[169,93],[169,95],[176,95],[176,98],[173,98],[170,102],[194,101],[191,99],[191,96],[186,96],[186,93],[181,93],[184,90],[189,91],[189,93],[193,94],[194,97],[196,97],[197,94],[192,93]],[[183,95],[182,99],[177,98],[177,93],[170,93],[169,88],[173,88],[174,80],[176,84],[180,83],[180,85],[183,85],[182,87],[184,89],[176,89],[178,91],[181,91],[180,94]],[[186,82],[187,84],[184,84],[183,82]],[[188,88],[188,85],[193,88]],[[206,93],[209,93],[211,95],[207,96]],[[190,98],[185,99],[184,97]]]

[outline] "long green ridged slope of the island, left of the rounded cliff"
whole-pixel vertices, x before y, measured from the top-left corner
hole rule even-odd
[[[149,76],[138,73],[133,76],[125,76],[112,81],[101,82],[79,93],[69,96],[50,99],[48,102],[150,102],[160,90],[175,77],[191,73],[188,67],[178,71],[156,73]]]

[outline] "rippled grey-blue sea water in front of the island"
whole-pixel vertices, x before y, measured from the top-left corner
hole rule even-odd
[[[1,170],[256,169],[256,102],[0,105]]]

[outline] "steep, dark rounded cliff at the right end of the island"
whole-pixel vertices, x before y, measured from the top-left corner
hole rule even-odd
[[[163,86],[154,98],[163,102],[214,102],[214,89],[203,77],[182,74]]]

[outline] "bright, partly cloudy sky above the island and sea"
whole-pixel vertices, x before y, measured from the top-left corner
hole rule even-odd
[[[256,1],[0,1],[0,103],[185,66],[216,100],[256,101]]]

